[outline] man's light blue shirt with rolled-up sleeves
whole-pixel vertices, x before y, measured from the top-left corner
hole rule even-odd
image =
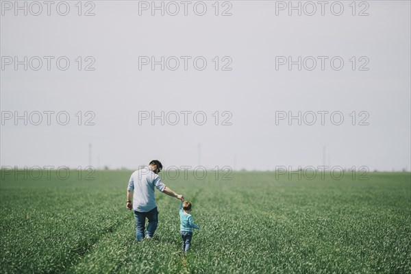
[[[133,210],[149,212],[157,206],[154,197],[154,187],[164,191],[166,185],[161,182],[160,176],[153,173],[149,166],[134,171],[129,179],[128,191],[134,190]]]

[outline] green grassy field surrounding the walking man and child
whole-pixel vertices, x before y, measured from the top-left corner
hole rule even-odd
[[[125,209],[131,173],[36,180],[3,172],[0,272],[411,273],[410,173],[164,179],[192,201],[201,225],[187,256],[179,201],[157,190],[155,238],[136,242],[134,215]]]

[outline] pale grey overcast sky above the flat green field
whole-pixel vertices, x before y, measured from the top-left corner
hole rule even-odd
[[[410,1],[15,3],[1,166],[410,171]]]

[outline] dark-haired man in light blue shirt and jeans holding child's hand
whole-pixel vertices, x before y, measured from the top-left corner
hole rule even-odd
[[[129,179],[127,187],[127,209],[133,210],[136,217],[136,239],[144,238],[145,219],[149,220],[146,238],[152,238],[158,225],[158,210],[154,197],[154,186],[161,192],[184,201],[183,195],[179,195],[161,182],[158,173],[162,170],[162,164],[158,160],[152,160],[149,166],[144,166],[134,171]],[[134,195],[133,195],[134,192]],[[133,198],[133,199],[132,199]]]

